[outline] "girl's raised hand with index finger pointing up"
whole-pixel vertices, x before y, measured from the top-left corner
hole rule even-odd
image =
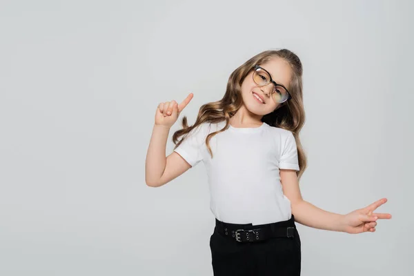
[[[159,103],[155,113],[155,125],[171,128],[175,121],[177,121],[180,112],[188,105],[191,99],[193,99],[193,93],[190,93],[180,104],[174,100]]]

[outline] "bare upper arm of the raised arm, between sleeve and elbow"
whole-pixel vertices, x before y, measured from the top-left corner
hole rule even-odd
[[[187,163],[177,152],[173,151],[166,159],[166,168],[157,183],[157,187],[167,184],[186,172],[191,165]]]

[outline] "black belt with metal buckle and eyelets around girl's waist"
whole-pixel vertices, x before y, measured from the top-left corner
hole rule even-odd
[[[295,217],[271,224],[229,224],[215,219],[217,232],[237,242],[259,242],[272,237],[295,237]]]

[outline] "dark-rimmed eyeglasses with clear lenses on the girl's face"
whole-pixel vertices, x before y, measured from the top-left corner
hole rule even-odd
[[[253,72],[253,81],[255,81],[258,86],[267,86],[269,83],[273,83],[271,95],[275,103],[283,103],[292,98],[288,90],[282,86],[282,84],[277,84],[273,81],[272,77],[270,77],[270,73],[258,65],[255,66],[255,71]]]

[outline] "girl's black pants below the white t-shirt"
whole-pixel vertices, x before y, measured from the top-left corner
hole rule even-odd
[[[277,226],[295,227],[295,237],[274,237],[260,242],[241,243],[221,235],[216,226],[210,237],[214,276],[300,275],[301,242],[295,217],[292,215],[286,221],[279,221]]]

